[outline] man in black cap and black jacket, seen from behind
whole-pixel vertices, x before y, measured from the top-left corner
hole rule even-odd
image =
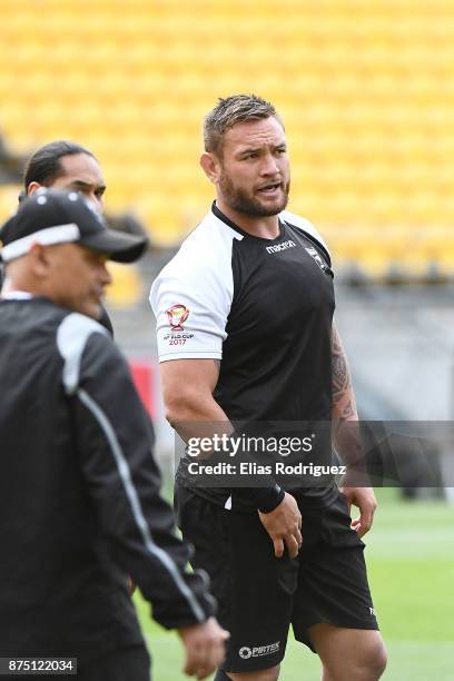
[[[0,658],[58,659],[66,674],[63,659],[77,658],[83,681],[145,681],[129,573],[155,619],[178,630],[186,673],[203,679],[227,634],[205,576],[185,570],[149,420],[96,322],[107,259],[137,259],[146,239],[57,190],[26,199],[2,238]]]

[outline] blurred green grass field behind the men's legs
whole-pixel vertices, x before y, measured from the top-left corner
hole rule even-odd
[[[454,507],[438,502],[402,502],[382,490],[374,529],[367,535],[369,581],[388,649],[387,681],[454,681]],[[137,596],[152,651],[154,681],[182,681],[177,635],[149,618]],[[317,681],[318,658],[290,641],[283,681]]]

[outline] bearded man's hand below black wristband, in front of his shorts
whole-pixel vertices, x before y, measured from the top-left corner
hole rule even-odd
[[[303,544],[302,514],[298,504],[292,494],[285,493],[280,504],[270,513],[260,513],[260,521],[272,537],[275,556],[284,555],[284,545],[287,546],[288,555],[294,559]]]

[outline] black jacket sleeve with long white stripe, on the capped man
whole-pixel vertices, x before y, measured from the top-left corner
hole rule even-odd
[[[176,536],[172,511],[160,496],[150,420],[124,357],[106,336],[88,339],[71,399],[80,465],[116,557],[160,624],[205,621],[214,612],[207,576],[187,570],[190,549]]]

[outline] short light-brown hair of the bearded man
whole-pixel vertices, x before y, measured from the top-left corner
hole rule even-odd
[[[233,95],[219,98],[216,107],[204,120],[204,144],[206,151],[220,151],[223,135],[236,124],[260,118],[276,118],[284,124],[274,106],[257,95]]]

